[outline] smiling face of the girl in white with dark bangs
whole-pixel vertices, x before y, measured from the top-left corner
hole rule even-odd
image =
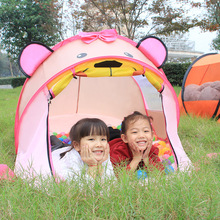
[[[81,138],[80,144],[78,145],[78,151],[80,153],[82,147],[88,146],[88,148],[91,150],[92,156],[97,161],[101,161],[104,157],[107,144],[108,142],[106,136],[90,135]]]

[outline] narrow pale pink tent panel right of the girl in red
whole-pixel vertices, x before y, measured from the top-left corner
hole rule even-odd
[[[166,117],[166,128],[168,138],[174,148],[177,157],[177,162],[180,170],[188,169],[191,166],[191,161],[186,155],[177,131],[177,112],[175,100],[172,98],[171,91],[165,86],[163,90],[163,109]]]

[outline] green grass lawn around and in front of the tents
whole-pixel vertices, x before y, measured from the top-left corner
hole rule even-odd
[[[11,168],[20,90],[0,90],[0,163]],[[178,133],[196,164],[190,175],[153,173],[147,184],[122,173],[118,182],[102,186],[50,182],[46,190],[46,182],[38,189],[19,178],[1,180],[0,219],[220,219],[220,158],[206,156],[220,152],[220,124],[181,116]]]

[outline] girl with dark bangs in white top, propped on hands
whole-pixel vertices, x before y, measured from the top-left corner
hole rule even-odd
[[[86,178],[114,176],[109,158],[109,131],[97,118],[78,121],[70,130],[71,147],[52,152],[56,175],[63,179],[77,179],[85,170]]]

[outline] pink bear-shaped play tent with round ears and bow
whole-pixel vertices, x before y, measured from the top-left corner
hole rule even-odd
[[[27,80],[15,119],[15,172],[54,175],[50,135],[67,134],[81,118],[98,117],[118,127],[133,111],[153,117],[159,156],[172,170],[191,162],[178,137],[179,108],[162,65],[163,42],[135,43],[115,30],[79,33],[52,49],[31,42],[19,64]]]

